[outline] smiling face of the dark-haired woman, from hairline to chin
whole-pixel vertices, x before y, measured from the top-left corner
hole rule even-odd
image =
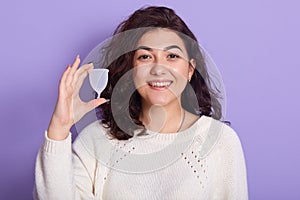
[[[145,33],[133,61],[134,82],[142,103],[178,103],[194,72],[188,59],[184,42],[174,31],[160,28]],[[191,64],[195,64],[193,60]]]

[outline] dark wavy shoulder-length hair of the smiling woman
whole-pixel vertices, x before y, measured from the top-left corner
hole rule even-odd
[[[133,34],[120,34],[138,28],[143,29]],[[132,75],[127,72],[133,68],[133,56],[139,39],[144,33],[157,28],[165,28],[177,33],[184,42],[189,59],[196,60],[190,84],[187,84],[182,93],[184,109],[196,115],[210,116],[217,120],[222,116],[221,104],[218,101],[220,91],[214,91],[211,87],[205,60],[195,35],[174,10],[156,6],[141,8],[120,23],[114,31],[113,39],[102,49],[103,65],[109,69],[108,84],[102,92],[102,97],[111,99],[114,93],[123,98],[116,98],[99,106],[96,112],[102,125],[119,140],[131,138],[136,129],[145,130],[143,123],[139,120],[142,108],[141,96],[135,89]],[[121,78],[125,81],[121,86],[115,87]],[[130,93],[132,95],[128,95]],[[191,99],[196,99],[196,102],[191,102]]]

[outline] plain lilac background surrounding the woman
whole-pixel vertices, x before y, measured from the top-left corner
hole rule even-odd
[[[174,8],[217,63],[250,199],[300,199],[297,0],[1,1],[0,199],[32,198],[35,156],[65,66],[146,4]]]

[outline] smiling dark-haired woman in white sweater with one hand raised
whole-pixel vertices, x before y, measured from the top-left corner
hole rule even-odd
[[[247,199],[240,141],[219,121],[218,94],[186,24],[169,8],[148,7],[114,36],[103,49],[104,98],[81,101],[93,64],[78,69],[79,56],[62,75],[37,157],[35,198]],[[71,126],[96,107],[100,122],[72,151]]]

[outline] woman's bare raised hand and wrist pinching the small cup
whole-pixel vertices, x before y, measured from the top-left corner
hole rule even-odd
[[[86,113],[106,102],[104,98],[83,102],[79,97],[82,83],[93,64],[86,64],[78,69],[79,55],[72,66],[68,65],[59,83],[59,93],[56,106],[47,130],[48,138],[63,140],[70,132],[73,124],[78,122]]]

